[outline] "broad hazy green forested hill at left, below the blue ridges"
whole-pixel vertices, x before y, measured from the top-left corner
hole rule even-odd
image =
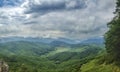
[[[34,42],[8,42],[0,44],[0,53],[21,56],[40,56],[54,50],[47,44]]]

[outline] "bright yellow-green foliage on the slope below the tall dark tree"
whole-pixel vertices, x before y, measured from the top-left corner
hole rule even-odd
[[[98,63],[101,60],[100,58],[101,57],[95,58],[94,60],[82,65],[81,72],[120,72],[120,67],[116,66],[114,63]]]

